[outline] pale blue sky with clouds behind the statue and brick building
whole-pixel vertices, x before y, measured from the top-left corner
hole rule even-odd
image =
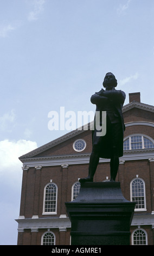
[[[94,112],[107,72],[153,105],[153,17],[153,0],[0,0],[0,245],[17,244],[18,157],[69,132],[49,113]]]

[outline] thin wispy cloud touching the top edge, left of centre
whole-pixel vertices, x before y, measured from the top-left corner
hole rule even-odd
[[[34,21],[38,19],[39,14],[43,11],[43,5],[45,3],[45,0],[34,0],[34,10],[30,11],[28,15],[29,21]]]

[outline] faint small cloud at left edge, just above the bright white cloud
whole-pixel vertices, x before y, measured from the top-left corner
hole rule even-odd
[[[0,117],[0,130],[1,131],[10,131],[10,129],[8,130],[8,127],[10,127],[11,125],[15,125],[15,120],[16,120],[16,114],[14,109],[11,109],[10,112],[4,113],[1,117]]]

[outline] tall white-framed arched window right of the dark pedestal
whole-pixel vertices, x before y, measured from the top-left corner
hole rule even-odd
[[[145,182],[142,179],[131,181],[131,201],[136,202],[135,211],[146,211]]]

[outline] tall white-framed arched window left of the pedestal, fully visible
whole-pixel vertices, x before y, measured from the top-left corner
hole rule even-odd
[[[49,183],[44,187],[43,214],[56,214],[57,186]]]

